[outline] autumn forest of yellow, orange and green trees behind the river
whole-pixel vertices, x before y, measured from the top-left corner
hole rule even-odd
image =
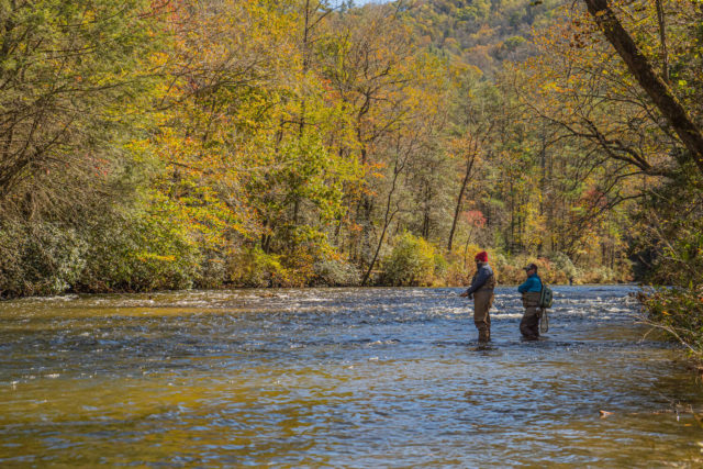
[[[0,2],[0,291],[673,286],[702,350],[696,0]],[[603,31],[605,34],[603,34]]]

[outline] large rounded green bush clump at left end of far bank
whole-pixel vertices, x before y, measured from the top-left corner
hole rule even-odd
[[[149,213],[103,214],[91,224],[0,225],[0,294],[186,289],[200,277],[187,234]]]

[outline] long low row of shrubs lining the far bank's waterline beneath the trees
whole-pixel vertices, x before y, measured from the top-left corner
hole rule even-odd
[[[397,236],[382,254],[370,286],[460,287],[470,283],[473,256],[469,245],[445,253],[422,237]],[[207,252],[178,230],[147,213],[122,216],[121,224],[96,222],[67,227],[38,223],[0,228],[2,298],[65,292],[146,292],[190,288],[267,288],[360,286],[362,271],[334,253],[291,258],[259,248],[236,253]],[[631,279],[623,267],[577,266],[561,253],[509,256],[489,249],[500,283],[524,279],[522,267],[536,263],[550,283],[620,282]]]

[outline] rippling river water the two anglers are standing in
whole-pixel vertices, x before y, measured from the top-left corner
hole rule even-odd
[[[3,302],[0,466],[700,467],[703,388],[634,290],[556,287],[524,343],[499,288],[488,348],[459,289]]]

